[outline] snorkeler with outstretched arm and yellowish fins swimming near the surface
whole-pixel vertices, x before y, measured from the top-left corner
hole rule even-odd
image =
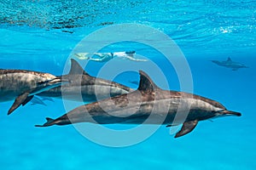
[[[77,53],[74,54],[75,57],[78,59],[87,59],[93,60],[97,62],[106,62],[110,59],[119,57],[123,59],[130,59],[132,61],[147,61],[148,59],[136,59],[134,57],[135,51],[128,51],[128,52],[115,52],[115,53]],[[96,56],[98,58],[93,58],[92,56]]]

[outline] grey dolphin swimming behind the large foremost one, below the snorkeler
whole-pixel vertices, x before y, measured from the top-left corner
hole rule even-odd
[[[69,83],[61,87],[51,88],[38,95],[54,98],[63,97],[64,99],[75,101],[80,101],[82,97],[84,102],[95,102],[96,100],[134,91],[117,82],[91,77],[75,59],[71,59],[71,69],[69,73],[59,76],[59,78],[68,80]]]

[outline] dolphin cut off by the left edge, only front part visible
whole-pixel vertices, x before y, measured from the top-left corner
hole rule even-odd
[[[34,95],[67,81],[49,73],[26,70],[0,70],[0,102],[15,99],[8,115],[26,105]]]

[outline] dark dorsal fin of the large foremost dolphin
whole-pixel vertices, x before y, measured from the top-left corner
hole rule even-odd
[[[159,87],[154,84],[150,77],[144,72],[140,71],[140,83],[139,87],[137,88],[140,91],[155,91]]]

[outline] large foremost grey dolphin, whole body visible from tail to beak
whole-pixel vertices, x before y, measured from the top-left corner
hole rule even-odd
[[[241,116],[241,113],[228,111],[224,105],[212,99],[195,94],[163,90],[157,87],[147,74],[140,71],[140,84],[136,91],[79,106],[55,120],[47,117],[44,125],[36,126],[96,122],[99,124],[166,124],[166,127],[169,127],[179,124],[174,122],[178,108],[179,114],[182,114],[179,116],[185,117],[185,120],[179,122],[183,123],[183,127],[176,133],[175,138],[191,132],[199,121],[218,116]]]

